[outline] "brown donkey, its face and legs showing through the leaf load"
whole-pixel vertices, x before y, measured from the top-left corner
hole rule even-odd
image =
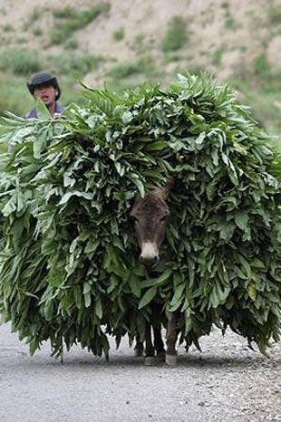
[[[144,265],[147,278],[150,277],[151,270],[160,261],[160,246],[165,238],[166,218],[170,215],[166,200],[174,186],[174,179],[170,177],[164,187],[160,187],[145,197],[138,197],[131,209],[131,216],[135,220],[135,232],[138,244],[140,246],[140,262]],[[152,320],[154,315],[160,315],[162,311],[160,303],[152,303]],[[161,323],[152,324],[154,334],[154,344],[151,340],[151,327],[149,322],[146,324],[145,333],[145,359],[146,365],[154,363],[155,350],[157,358],[162,359],[170,366],[175,366],[177,361],[177,352],[175,344],[178,333],[176,329],[176,319],[173,313],[168,312],[167,325],[167,351],[161,339]],[[140,338],[137,337],[136,345],[137,355],[142,354],[143,346]]]

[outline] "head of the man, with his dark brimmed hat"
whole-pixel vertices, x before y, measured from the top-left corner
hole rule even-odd
[[[57,79],[50,73],[37,73],[31,83],[27,83],[27,88],[34,99],[43,101],[46,107],[50,107],[61,95]]]

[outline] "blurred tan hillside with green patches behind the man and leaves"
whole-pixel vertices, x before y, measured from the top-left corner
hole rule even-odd
[[[0,110],[31,104],[24,83],[55,72],[63,101],[77,82],[114,89],[206,69],[230,80],[257,117],[280,129],[280,0],[5,0],[0,7]]]

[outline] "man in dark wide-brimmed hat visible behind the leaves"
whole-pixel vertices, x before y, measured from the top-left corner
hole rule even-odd
[[[57,102],[61,96],[61,89],[53,75],[46,72],[37,73],[26,85],[35,100],[44,102],[51,116],[63,114],[63,106]],[[37,110],[34,108],[26,114],[25,119],[37,119],[37,117]]]

